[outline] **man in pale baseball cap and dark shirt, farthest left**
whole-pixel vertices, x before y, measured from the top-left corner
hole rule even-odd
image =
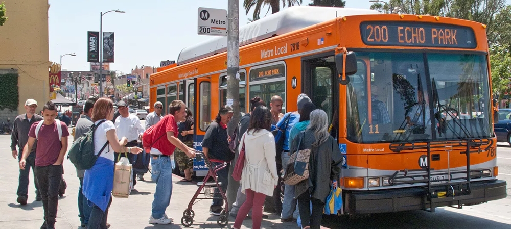
[[[23,148],[27,144],[27,141],[29,139],[29,131],[30,126],[34,122],[38,122],[43,120],[42,116],[35,114],[35,109],[37,109],[37,101],[34,99],[27,99],[25,101],[25,111],[27,113],[19,115],[14,119],[14,126],[12,128],[12,134],[11,134],[11,150],[12,150],[12,157],[16,159],[16,156],[18,156],[18,151],[16,151],[16,145],[18,146],[19,150],[19,157],[18,157],[18,163],[21,159],[21,152],[23,151]],[[18,198],[16,201],[20,205],[26,205],[27,199],[28,199],[28,190],[29,190],[29,174],[30,174],[30,167],[32,167],[32,173],[34,174],[34,185],[35,185],[35,193],[36,201],[40,201],[41,194],[39,193],[39,184],[37,182],[37,177],[35,173],[35,149],[36,145],[34,144],[34,147],[30,150],[30,154],[27,157],[27,166],[26,169],[20,169],[19,170],[19,180],[18,180],[18,191],[16,194],[18,195]]]

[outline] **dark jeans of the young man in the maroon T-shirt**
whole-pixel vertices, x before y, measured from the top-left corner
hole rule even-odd
[[[48,228],[54,228],[62,181],[62,165],[36,166],[36,173],[44,209],[44,222]]]

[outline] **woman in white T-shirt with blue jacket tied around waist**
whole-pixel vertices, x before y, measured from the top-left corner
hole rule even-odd
[[[106,147],[99,154],[96,164],[85,170],[83,176],[83,195],[92,203],[87,229],[106,229],[108,208],[112,202],[110,193],[113,189],[113,160],[115,159],[113,152],[139,154],[142,149],[124,146],[128,139],[123,137],[119,140],[113,122],[107,121],[113,119],[111,99],[107,97],[98,99],[94,104],[91,119],[94,125],[98,126],[94,132],[94,153],[98,155],[105,144]]]

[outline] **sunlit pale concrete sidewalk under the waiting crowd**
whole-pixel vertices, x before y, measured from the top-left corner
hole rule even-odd
[[[71,133],[71,131],[70,131]],[[72,138],[69,138],[71,147]],[[18,186],[19,166],[18,160],[11,155],[11,136],[0,135],[0,159],[4,161],[2,172],[2,185],[0,186],[0,228],[39,228],[43,222],[42,202],[35,201],[33,175],[30,174],[29,197],[25,206],[16,202],[16,189]],[[66,156],[67,157],[67,156]],[[32,172],[31,172],[32,173]],[[64,159],[64,179],[67,182],[66,193],[59,199],[56,228],[76,229],[80,227],[78,218],[77,192],[79,180],[76,176],[74,165]],[[151,215],[151,203],[155,184],[151,181],[150,173],[144,175],[145,181],[137,181],[136,191],[133,191],[129,198],[115,198],[108,214],[108,223],[112,229],[117,228],[182,228],[181,217],[187,208],[190,199],[197,190],[192,183],[177,183],[181,177],[173,177],[173,193],[170,206],[167,208],[167,215],[174,218],[173,224],[153,225],[149,224]],[[210,215],[208,212],[211,200],[202,200],[193,206],[195,212],[194,223],[191,228],[220,228],[217,224],[218,216]],[[261,228],[275,229],[297,229],[296,223],[282,223],[277,215],[269,214],[269,219],[263,219]],[[234,218],[229,218],[226,228],[232,228]],[[246,219],[242,228],[251,228],[252,221]]]

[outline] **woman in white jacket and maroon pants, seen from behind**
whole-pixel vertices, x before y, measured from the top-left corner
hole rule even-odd
[[[247,132],[243,134],[238,147],[245,147],[245,165],[241,173],[241,190],[247,199],[238,211],[233,228],[240,228],[252,209],[252,228],[261,227],[263,204],[266,196],[273,195],[278,182],[275,162],[275,140],[269,131],[271,113],[264,106],[255,108],[250,117]],[[262,147],[261,147],[262,146]]]

